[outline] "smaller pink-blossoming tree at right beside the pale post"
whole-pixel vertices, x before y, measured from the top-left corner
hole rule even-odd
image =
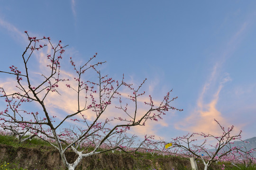
[[[225,130],[225,128],[221,126],[216,119],[214,120],[223,131],[222,135],[214,136],[210,133],[192,133],[185,136],[176,137],[171,142],[174,148],[178,147],[180,149],[180,153],[183,153],[189,157],[195,157],[196,159],[200,158],[204,164],[204,170],[207,170],[213,162],[226,161],[224,158],[229,157],[231,154],[234,155],[234,153],[238,153],[240,148],[236,146],[232,147],[231,144],[233,144],[234,140],[242,141],[242,131],[240,131],[237,135],[231,135],[234,126],[231,126]],[[207,147],[207,139],[205,139],[202,144],[195,143],[197,138],[200,138],[201,136],[208,139],[214,139],[215,141],[217,140],[215,145],[208,144],[213,149]]]

